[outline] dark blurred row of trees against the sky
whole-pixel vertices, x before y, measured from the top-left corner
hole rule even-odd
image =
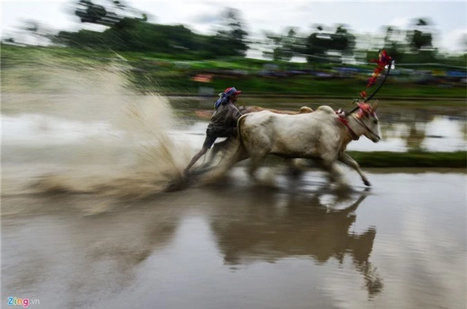
[[[345,25],[335,28],[316,25],[310,34],[299,34],[296,28],[290,27],[284,33],[265,32],[264,39],[253,42],[244,30],[241,12],[233,8],[221,12],[222,25],[217,33],[201,35],[183,25],[152,24],[144,12],[122,1],[109,1],[106,6],[91,0],[75,4],[74,14],[82,22],[104,25],[107,30],[60,31],[49,36],[52,42],[75,48],[170,53],[199,59],[244,57],[248,48],[256,45],[261,46],[265,58],[289,61],[294,56],[303,56],[309,63],[342,62],[343,58],[358,53],[356,35]],[[433,45],[432,32],[429,19],[423,18],[414,19],[408,30],[387,26],[380,47],[399,63],[414,59],[435,62],[439,52]]]

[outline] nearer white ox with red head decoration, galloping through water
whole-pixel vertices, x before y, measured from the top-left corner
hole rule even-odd
[[[237,123],[240,145],[232,157],[226,158],[220,174],[238,161],[251,158],[248,173],[255,171],[268,154],[285,158],[313,159],[342,184],[337,161],[354,168],[363,183],[370,183],[358,163],[345,153],[347,145],[361,135],[377,143],[380,137],[376,105],[359,103],[357,112],[339,115],[329,106],[320,106],[309,114],[275,114],[262,111],[246,114]],[[219,175],[219,174],[218,174]]]

